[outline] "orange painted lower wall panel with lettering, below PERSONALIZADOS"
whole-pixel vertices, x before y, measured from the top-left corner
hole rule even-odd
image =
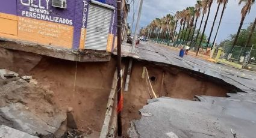
[[[0,37],[71,49],[73,26],[0,13]]]

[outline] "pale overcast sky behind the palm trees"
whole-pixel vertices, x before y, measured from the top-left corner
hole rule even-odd
[[[135,25],[136,25],[139,1],[140,0],[135,0],[134,2],[134,11],[136,11],[136,16],[134,20],[133,29],[135,28]],[[220,41],[227,39],[230,34],[236,34],[237,29],[239,27],[240,20],[241,20],[240,11],[242,9],[242,5],[239,6],[238,2],[239,0],[229,0],[225,13],[223,15],[222,23],[220,25],[220,32],[217,37],[217,43],[220,43]],[[144,0],[143,7],[142,7],[142,16],[140,19],[140,28],[147,26],[156,17],[161,18],[168,13],[176,13],[176,11],[178,10],[181,11],[186,7],[194,6],[195,3],[196,3],[196,0]],[[205,34],[207,34],[207,36],[208,34],[210,34],[211,25],[213,23],[212,21],[214,19],[216,10],[217,10],[217,4],[216,4],[216,1],[214,1],[214,4],[212,5],[211,12],[210,12],[210,17],[208,19],[209,22],[207,23],[207,28],[205,30]],[[222,10],[222,5],[220,6],[220,12],[216,21],[219,21],[220,19],[221,10]],[[133,4],[131,4],[131,11],[128,15],[129,23],[131,23],[132,21],[132,16],[133,16]],[[256,17],[256,4],[252,6],[251,13],[249,13],[246,16],[243,28],[248,27],[249,22],[254,22],[255,17]],[[206,16],[204,20],[206,20]],[[201,21],[201,17],[198,21],[198,25],[197,25],[198,28],[200,25],[200,21]],[[204,23],[202,26],[204,26]],[[213,35],[215,35],[216,29],[217,29],[217,23],[214,26]],[[213,37],[211,38],[211,41],[213,41]]]

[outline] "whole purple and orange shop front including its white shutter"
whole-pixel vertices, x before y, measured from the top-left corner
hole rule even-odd
[[[111,52],[116,45],[116,8],[116,0],[3,0],[0,38]]]

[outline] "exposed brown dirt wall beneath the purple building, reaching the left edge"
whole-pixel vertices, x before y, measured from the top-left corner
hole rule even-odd
[[[52,91],[59,109],[66,112],[72,107],[79,130],[99,134],[116,69],[114,58],[110,62],[78,62],[76,68],[73,61],[2,48],[0,57],[0,68],[31,75],[37,85]]]

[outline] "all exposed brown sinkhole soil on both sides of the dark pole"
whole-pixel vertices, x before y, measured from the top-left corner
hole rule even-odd
[[[19,55],[17,56],[17,54]],[[59,109],[73,108],[78,130],[98,136],[104,121],[108,95],[116,69],[114,58],[110,62],[78,62],[76,68],[76,62],[33,55],[32,53],[17,52],[10,56],[13,57],[5,56],[10,62],[8,60],[0,61],[1,68],[32,75],[39,82],[38,85],[53,92],[53,100]],[[123,65],[127,70],[128,60],[123,59]],[[134,60],[129,90],[123,92],[124,134],[130,127],[130,121],[140,119],[139,110],[150,98],[145,79],[142,79],[143,67],[148,68],[152,87],[157,95],[161,89],[161,79],[164,73],[161,94],[165,97],[187,100],[193,100],[195,95],[225,97],[227,92],[232,92],[235,89],[234,86],[225,85],[218,80],[213,82],[207,76],[189,70]],[[125,83],[124,80],[125,77],[123,83]]]

